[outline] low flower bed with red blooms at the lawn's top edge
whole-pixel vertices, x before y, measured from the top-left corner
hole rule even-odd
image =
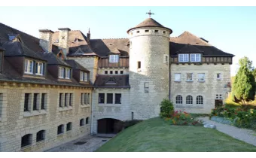
[[[170,117],[165,117],[164,120],[172,125],[203,126],[203,123],[201,121],[195,120],[194,117],[192,117],[185,111],[172,111]]]

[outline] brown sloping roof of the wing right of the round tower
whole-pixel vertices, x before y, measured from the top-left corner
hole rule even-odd
[[[169,41],[169,52],[171,56],[177,56],[181,52],[203,53],[203,56],[234,56],[231,53],[219,50],[217,47],[212,46],[190,32],[183,32],[178,37],[171,37]]]

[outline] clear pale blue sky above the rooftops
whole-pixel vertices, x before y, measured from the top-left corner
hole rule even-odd
[[[256,67],[256,7],[0,7],[0,23],[35,37],[38,29],[69,27],[84,34],[90,28],[91,38],[126,38],[126,30],[145,20],[150,9],[154,20],[172,29],[171,36],[188,31],[236,55],[231,75],[242,56]]]

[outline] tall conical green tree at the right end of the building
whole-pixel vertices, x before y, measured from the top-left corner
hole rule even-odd
[[[248,57],[245,56],[239,59],[240,67],[232,86],[234,98],[242,101],[243,105],[248,100],[254,100],[255,96],[255,78],[251,72],[254,68],[251,65],[252,62]]]

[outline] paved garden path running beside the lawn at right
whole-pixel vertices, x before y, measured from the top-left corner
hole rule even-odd
[[[250,129],[239,129],[236,126],[230,126],[227,124],[217,123],[209,120],[209,117],[198,117],[197,119],[203,120],[203,123],[210,123],[216,125],[216,129],[220,132],[224,132],[233,138],[245,141],[248,144],[256,146],[256,132]]]

